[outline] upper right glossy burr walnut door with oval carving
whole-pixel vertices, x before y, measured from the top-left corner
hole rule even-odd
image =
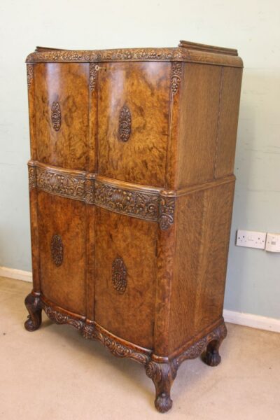
[[[98,92],[99,174],[164,186],[170,74],[170,63],[102,64]]]

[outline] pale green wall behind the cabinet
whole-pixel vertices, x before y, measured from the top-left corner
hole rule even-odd
[[[235,246],[237,228],[279,232],[279,0],[2,0],[0,265],[31,268],[24,60],[35,45],[238,48],[244,59],[225,307],[280,318],[280,255]]]

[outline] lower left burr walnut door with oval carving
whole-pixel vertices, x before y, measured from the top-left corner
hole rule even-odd
[[[41,287],[45,297],[85,315],[85,204],[38,191]]]

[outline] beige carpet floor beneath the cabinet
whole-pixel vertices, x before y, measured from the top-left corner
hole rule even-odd
[[[31,283],[0,278],[0,418],[4,420],[279,420],[280,334],[228,324],[218,367],[184,362],[173,408],[153,407],[144,367],[43,316],[27,332]]]

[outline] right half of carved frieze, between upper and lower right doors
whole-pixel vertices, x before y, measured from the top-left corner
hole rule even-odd
[[[158,194],[125,190],[95,181],[94,202],[117,213],[158,221]]]

